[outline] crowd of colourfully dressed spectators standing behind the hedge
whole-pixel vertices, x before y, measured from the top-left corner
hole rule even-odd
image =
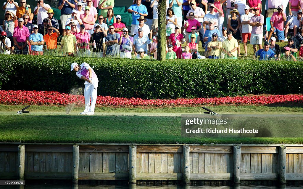
[[[7,0],[0,53],[157,59],[158,0],[134,0],[129,26],[114,6],[114,0],[59,0],[59,28],[44,0],[33,10],[26,0]],[[238,59],[253,52],[259,60],[297,61],[303,57],[302,10],[303,0],[265,0],[265,7],[261,0],[166,0],[166,59]]]

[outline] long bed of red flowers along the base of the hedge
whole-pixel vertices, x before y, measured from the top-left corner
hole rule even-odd
[[[195,106],[221,104],[274,104],[302,103],[303,95],[269,95],[269,96],[235,96],[220,98],[195,98],[176,100],[143,100],[140,98],[117,98],[98,96],[97,105],[102,106]],[[5,104],[37,104],[37,105],[76,105],[84,104],[84,96],[58,93],[55,91],[3,91],[0,90],[0,103]]]

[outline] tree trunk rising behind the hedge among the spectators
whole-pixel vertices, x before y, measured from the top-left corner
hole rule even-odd
[[[166,56],[166,0],[159,0],[158,5],[158,60]]]

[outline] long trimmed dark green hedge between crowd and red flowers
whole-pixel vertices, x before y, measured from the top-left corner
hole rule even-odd
[[[95,66],[98,95],[169,99],[302,93],[301,62],[254,60],[134,60],[47,56],[0,56],[2,90],[69,93],[84,81],[72,62]]]

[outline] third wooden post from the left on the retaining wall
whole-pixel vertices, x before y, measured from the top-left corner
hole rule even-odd
[[[137,184],[137,146],[129,146],[128,173],[129,184]]]

